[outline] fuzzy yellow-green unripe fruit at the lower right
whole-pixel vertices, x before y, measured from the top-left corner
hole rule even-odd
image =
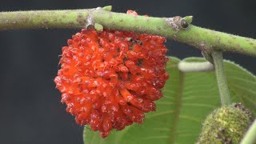
[[[239,143],[252,122],[252,114],[241,103],[222,106],[207,116],[197,144]]]

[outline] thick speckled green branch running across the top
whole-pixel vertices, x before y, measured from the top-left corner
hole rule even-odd
[[[34,10],[0,13],[0,30],[86,28],[101,24],[111,30],[157,34],[185,42],[200,50],[234,51],[256,56],[256,40],[186,25],[192,17],[153,18],[110,12],[111,7],[87,10]],[[186,26],[188,26],[186,28]]]

